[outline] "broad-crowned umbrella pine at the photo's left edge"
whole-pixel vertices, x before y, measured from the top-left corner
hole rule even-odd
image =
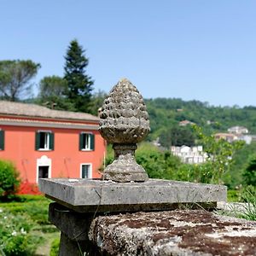
[[[0,97],[16,101],[29,93],[29,81],[38,73],[40,64],[28,61],[0,61]]]

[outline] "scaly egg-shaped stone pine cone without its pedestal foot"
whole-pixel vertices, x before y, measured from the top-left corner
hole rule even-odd
[[[108,143],[139,143],[150,131],[143,96],[127,79],[110,91],[100,114],[100,129]]]

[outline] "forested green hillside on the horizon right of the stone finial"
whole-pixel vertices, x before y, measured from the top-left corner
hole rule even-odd
[[[227,132],[234,125],[246,126],[250,134],[256,134],[256,107],[215,107],[207,102],[185,102],[178,98],[146,99],[145,102],[150,117],[150,140],[168,133],[183,120],[201,126],[208,134]]]

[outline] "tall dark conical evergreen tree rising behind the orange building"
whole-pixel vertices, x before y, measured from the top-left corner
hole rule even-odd
[[[73,103],[76,111],[90,112],[93,81],[85,73],[89,61],[77,40],[70,43],[65,60],[64,79],[67,80],[67,98]]]

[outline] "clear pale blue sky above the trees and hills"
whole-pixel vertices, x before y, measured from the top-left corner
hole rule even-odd
[[[0,60],[63,75],[73,38],[95,91],[126,77],[145,98],[256,105],[256,1],[1,0]]]

